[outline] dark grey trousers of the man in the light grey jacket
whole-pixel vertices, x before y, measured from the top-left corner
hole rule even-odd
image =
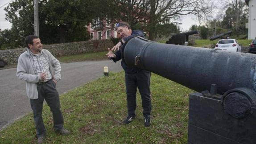
[[[42,110],[44,99],[51,112],[53,113],[54,129],[59,130],[63,127],[64,120],[60,110],[60,101],[55,83],[50,80],[44,84],[37,84],[38,99],[30,99],[30,105],[33,110],[34,121],[37,129],[37,137],[45,136],[46,129],[42,119]]]

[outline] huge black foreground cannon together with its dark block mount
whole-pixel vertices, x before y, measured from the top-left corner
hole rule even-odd
[[[198,91],[190,94],[189,144],[256,144],[256,55],[160,44],[141,37],[125,63]]]

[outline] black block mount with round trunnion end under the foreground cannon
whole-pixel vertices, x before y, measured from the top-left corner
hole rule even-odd
[[[219,99],[190,94],[188,144],[256,143],[256,95],[243,88],[232,91]]]

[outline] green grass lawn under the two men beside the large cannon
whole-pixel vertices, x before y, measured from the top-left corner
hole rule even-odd
[[[69,136],[54,133],[47,105],[43,120],[46,142],[55,144],[104,143],[187,143],[189,93],[192,90],[152,74],[152,125],[144,127],[140,95],[137,95],[136,119],[120,122],[127,116],[124,72],[110,73],[60,96],[65,128]],[[33,115],[29,113],[0,132],[0,144],[36,143]]]

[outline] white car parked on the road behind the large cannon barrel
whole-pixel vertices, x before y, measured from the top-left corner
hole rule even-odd
[[[215,45],[215,49],[226,51],[241,52],[241,46],[235,39],[221,39]]]

